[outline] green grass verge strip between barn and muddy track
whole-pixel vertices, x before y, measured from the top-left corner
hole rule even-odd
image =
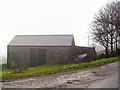
[[[87,63],[78,63],[78,64],[41,65],[38,67],[28,68],[24,73],[18,73],[16,72],[15,69],[3,69],[2,74],[0,74],[0,79],[8,80],[8,79],[25,78],[32,76],[50,75],[59,72],[67,72],[77,69],[98,67],[116,61],[120,61],[120,57],[113,57],[113,58],[101,59],[101,60],[91,61]]]

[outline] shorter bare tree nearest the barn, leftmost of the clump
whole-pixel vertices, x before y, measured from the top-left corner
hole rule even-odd
[[[93,30],[93,40],[95,42],[99,42],[100,45],[105,47],[105,53],[108,54],[108,33],[107,28],[103,23],[94,22],[92,24],[92,30]]]

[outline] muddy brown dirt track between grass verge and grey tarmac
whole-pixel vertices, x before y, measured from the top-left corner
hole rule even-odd
[[[3,88],[87,88],[118,71],[118,63],[87,70],[32,77],[2,83]],[[118,77],[118,76],[116,76]],[[118,81],[114,82],[118,83]],[[94,87],[93,87],[94,88]],[[116,87],[117,88],[117,87]]]

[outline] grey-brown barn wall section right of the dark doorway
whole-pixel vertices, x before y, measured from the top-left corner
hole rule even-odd
[[[52,47],[47,49],[46,64],[65,64],[72,62],[72,53],[70,47]]]

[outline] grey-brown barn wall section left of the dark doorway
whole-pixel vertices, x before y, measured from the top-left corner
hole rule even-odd
[[[9,68],[29,67],[29,48],[8,47],[7,65]]]

